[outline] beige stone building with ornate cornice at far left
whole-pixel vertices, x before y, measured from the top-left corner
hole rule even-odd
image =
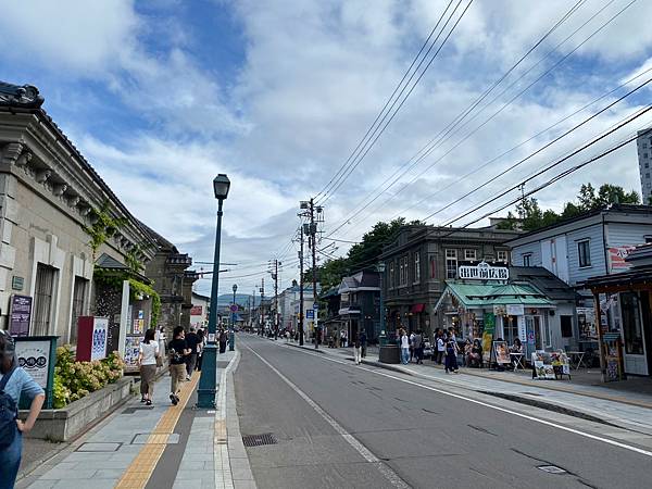
[[[0,325],[15,323],[22,296],[33,302],[25,334],[74,342],[76,318],[95,312],[96,261],[131,269],[155,248],[42,103],[33,86],[0,83]],[[124,335],[126,314],[111,321]]]

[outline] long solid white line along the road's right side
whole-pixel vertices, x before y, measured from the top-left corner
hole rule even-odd
[[[287,348],[290,348],[290,347],[287,347]],[[313,352],[310,352],[310,351],[305,351],[303,349],[296,349],[296,350],[297,351],[301,351],[304,354],[310,354],[310,355],[316,356],[317,359],[326,360],[328,362],[339,363],[339,364],[343,364],[343,365],[350,365],[349,362],[341,361],[341,360],[336,360],[336,359],[329,359],[325,354],[316,354],[316,353],[313,353]],[[512,414],[514,416],[518,416],[518,417],[522,417],[524,419],[529,419],[529,421],[532,421],[535,423],[540,423],[542,425],[551,426],[553,428],[561,429],[563,431],[568,431],[568,432],[578,435],[580,437],[589,438],[589,439],[595,440],[595,441],[602,441],[603,443],[611,444],[613,447],[618,447],[618,448],[622,448],[622,449],[625,449],[625,450],[629,450],[631,452],[640,453],[641,455],[645,455],[645,456],[652,457],[652,452],[649,451],[649,450],[643,450],[643,449],[640,449],[638,447],[632,447],[630,444],[622,443],[619,441],[610,440],[609,438],[603,438],[603,437],[600,437],[598,435],[591,435],[590,432],[580,431],[579,429],[570,428],[570,427],[564,426],[564,425],[559,425],[556,423],[552,423],[552,422],[549,422],[547,419],[540,419],[538,417],[530,416],[528,414],[518,413],[516,411],[512,411],[512,410],[509,410],[506,408],[501,408],[499,405],[490,404],[488,402],[482,402],[482,401],[478,401],[476,399],[471,399],[471,398],[467,398],[466,396],[461,396],[461,394],[456,394],[456,393],[453,393],[453,392],[447,392],[446,390],[437,389],[436,387],[426,386],[424,384],[419,384],[419,383],[414,381],[414,380],[409,380],[409,379],[405,379],[405,378],[397,377],[396,375],[386,374],[385,372],[377,372],[377,371],[374,371],[374,369],[371,369],[371,368],[363,367],[361,365],[356,365],[355,368],[360,368],[360,369],[363,369],[365,372],[369,372],[372,374],[380,375],[383,377],[387,377],[387,378],[391,378],[391,379],[394,379],[394,380],[399,380],[399,381],[404,383],[404,384],[410,384],[412,386],[421,387],[422,389],[431,390],[434,392],[438,392],[438,393],[441,393],[443,396],[449,396],[451,398],[460,399],[462,401],[472,402],[474,404],[482,405],[485,408],[489,408],[489,409],[492,409],[492,410],[496,410],[496,411],[501,411],[503,413]],[[440,380],[440,379],[438,379],[436,377],[431,377],[431,378],[435,379],[435,380],[438,380],[438,381]]]

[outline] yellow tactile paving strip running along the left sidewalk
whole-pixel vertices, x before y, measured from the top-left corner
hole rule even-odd
[[[179,421],[184,409],[188,404],[190,396],[195,391],[199,381],[200,373],[195,372],[189,383],[184,383],[179,394],[179,403],[167,408],[156,426],[147,439],[145,447],[138,453],[134,462],[127,467],[121,479],[117,481],[116,488],[134,489],[145,488],[150,477],[152,476],[165,446],[167,438],[174,432],[174,428]]]

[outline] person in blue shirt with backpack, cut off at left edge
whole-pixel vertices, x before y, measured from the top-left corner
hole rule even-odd
[[[46,400],[43,389],[18,366],[15,352],[11,336],[0,330],[0,489],[14,487],[23,453],[23,434],[32,430]],[[24,422],[17,418],[21,396],[32,400]]]

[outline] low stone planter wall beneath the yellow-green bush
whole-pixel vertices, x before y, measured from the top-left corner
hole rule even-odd
[[[134,379],[123,377],[115,384],[90,392],[60,410],[42,410],[26,437],[50,441],[68,441],[86,431],[90,425],[122,404],[129,396]],[[21,410],[25,419],[28,411]]]

